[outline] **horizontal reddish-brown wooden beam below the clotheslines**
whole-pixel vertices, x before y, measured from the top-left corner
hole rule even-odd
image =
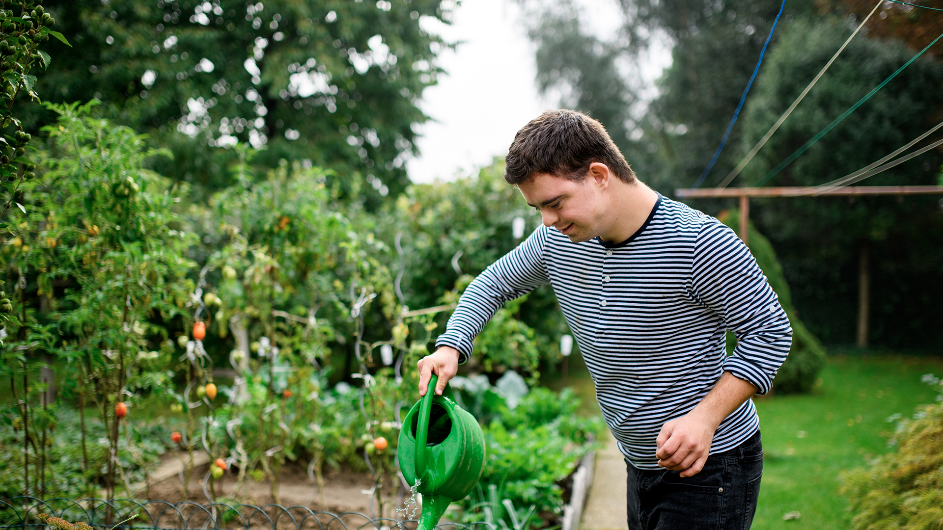
[[[846,186],[844,188],[679,188],[679,198],[816,197],[821,195],[927,195],[943,193],[943,186]]]

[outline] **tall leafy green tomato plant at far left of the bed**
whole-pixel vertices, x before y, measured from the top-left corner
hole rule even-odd
[[[79,406],[91,398],[108,444],[116,446],[115,405],[143,406],[170,391],[167,373],[139,361],[173,353],[163,323],[178,314],[174,301],[193,266],[182,254],[190,238],[171,228],[177,219],[169,182],[141,167],[158,152],[127,127],[91,119],[90,107],[50,107],[59,120],[46,129],[45,174],[25,184],[24,207],[8,212],[11,240],[0,257],[8,278],[16,274],[8,281],[16,295],[9,340],[0,347],[3,371],[11,381],[22,377],[22,387],[11,391],[22,396],[24,443],[34,449],[40,484],[46,456],[37,440],[48,429],[28,430],[40,414],[29,403],[44,388],[28,385],[30,362],[41,354],[67,359]],[[115,458],[91,455],[83,445],[83,462],[95,473],[105,466],[102,477],[113,491],[123,469]]]

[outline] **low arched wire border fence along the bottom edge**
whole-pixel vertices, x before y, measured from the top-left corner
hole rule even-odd
[[[37,497],[13,497],[0,500],[0,529],[44,529],[39,514],[66,522],[85,522],[94,530],[413,530],[417,521],[372,518],[360,512],[332,513],[315,511],[303,505],[228,505],[190,501],[135,501],[132,499],[65,498],[42,500]],[[106,516],[122,521],[112,526]],[[132,518],[128,520],[129,518]],[[128,521],[125,521],[128,520]],[[446,522],[440,530],[496,530],[492,523],[460,524]]]

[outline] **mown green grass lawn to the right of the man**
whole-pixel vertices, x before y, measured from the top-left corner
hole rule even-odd
[[[848,528],[838,474],[888,451],[888,416],[934,401],[924,373],[943,375],[943,359],[829,356],[814,394],[756,399],[766,458],[753,529]],[[784,521],[791,511],[802,517]]]

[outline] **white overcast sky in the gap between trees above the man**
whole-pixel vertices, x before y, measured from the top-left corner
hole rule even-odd
[[[620,13],[614,0],[583,0],[588,24],[614,32]],[[445,41],[464,41],[439,55],[447,75],[422,93],[433,121],[417,127],[422,154],[407,162],[413,182],[454,179],[504,156],[514,134],[557,101],[541,97],[535,48],[511,0],[465,0],[453,25],[429,27]]]

